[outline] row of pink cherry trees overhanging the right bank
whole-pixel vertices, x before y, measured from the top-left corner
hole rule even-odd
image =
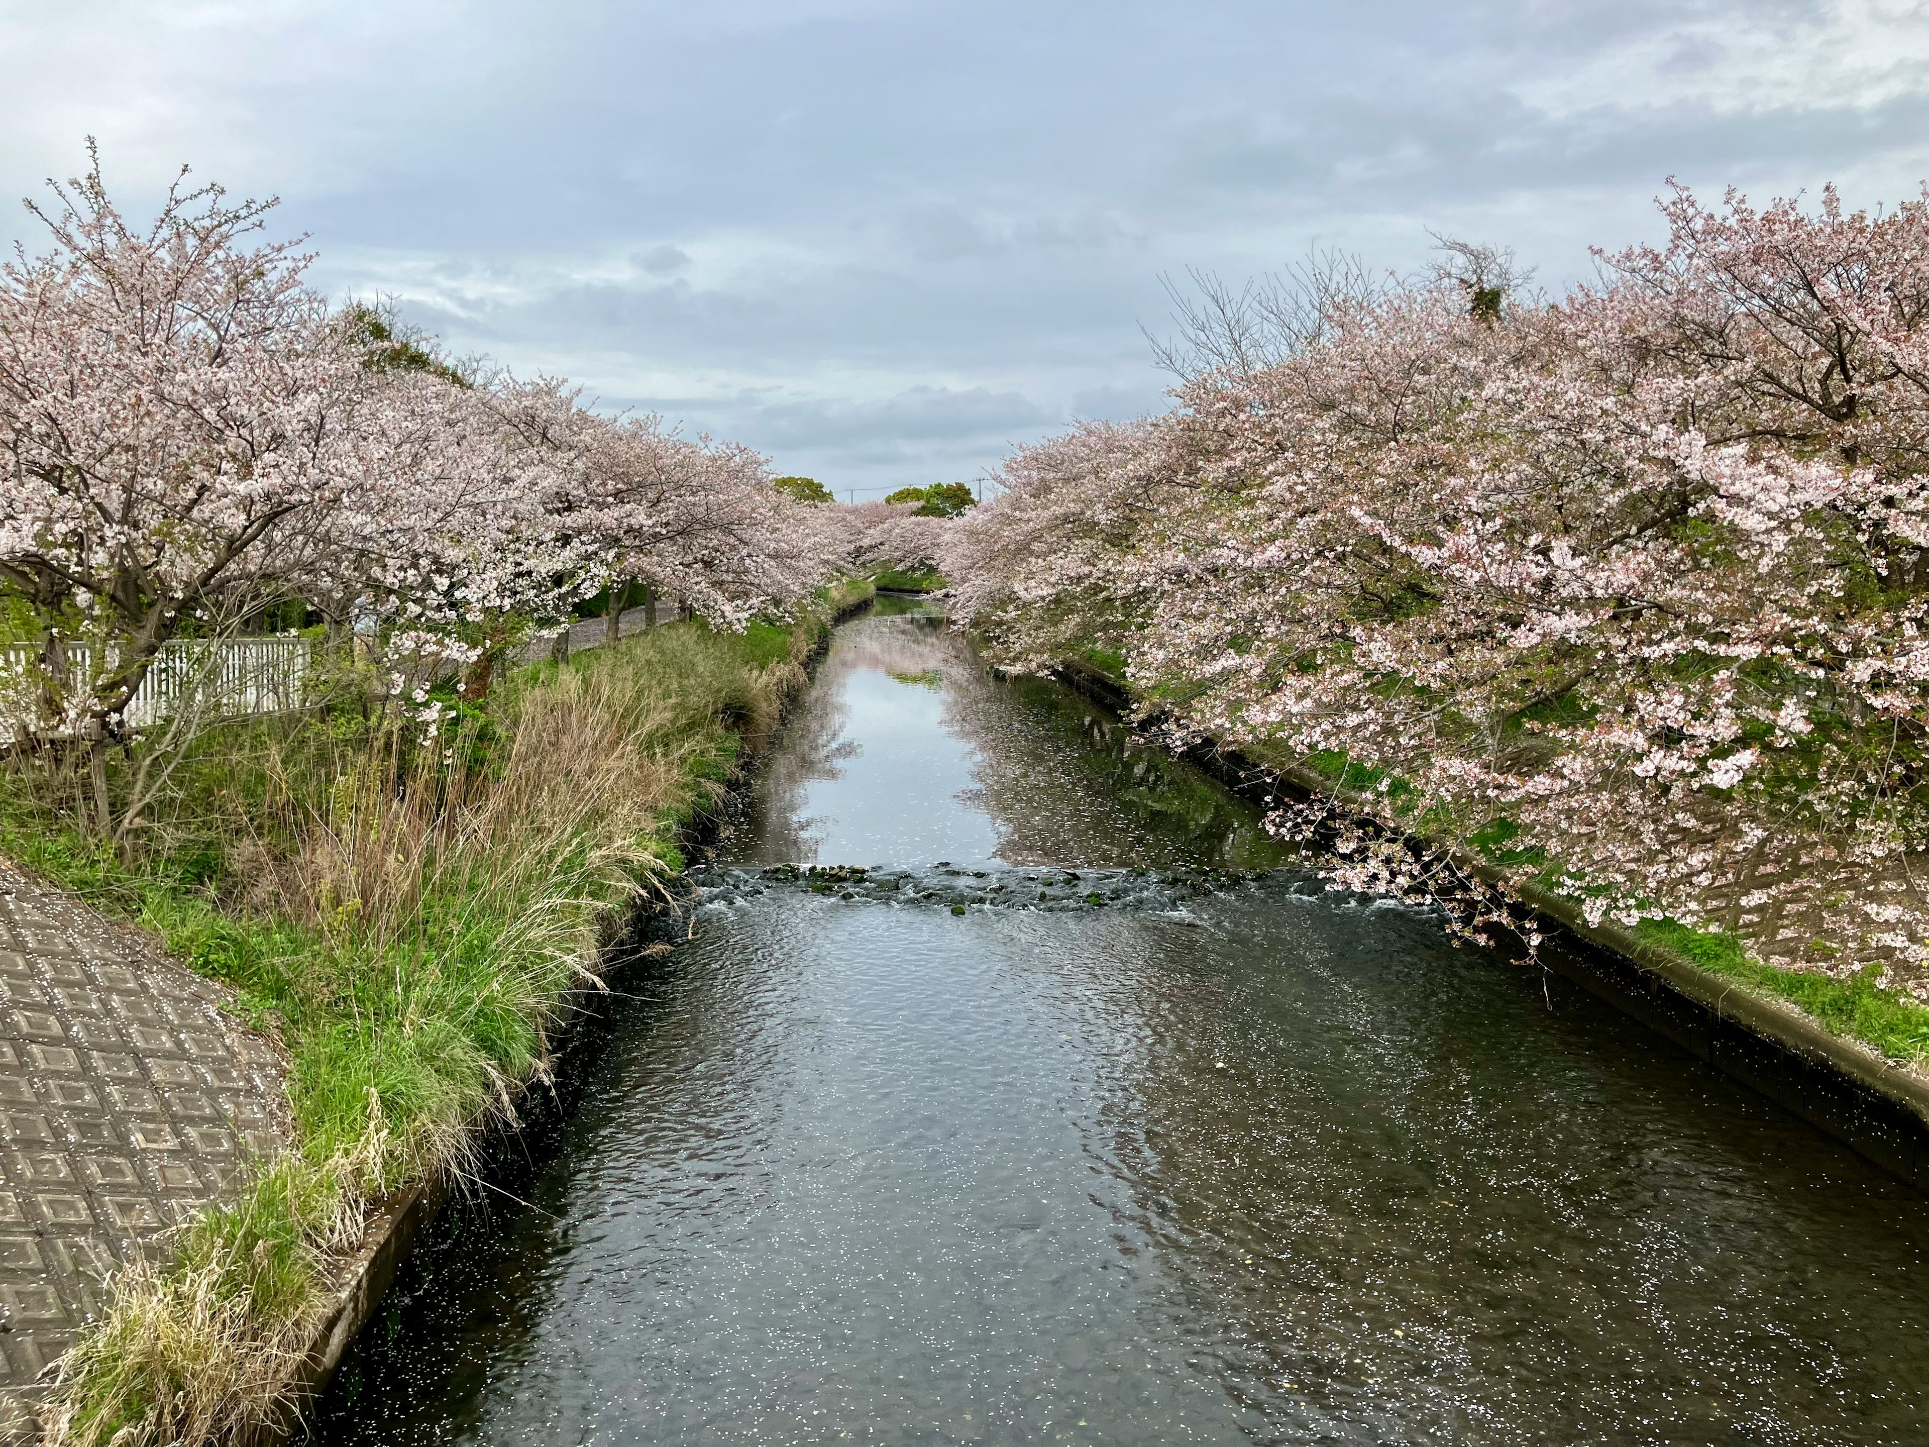
[[[1213,293],[1171,413],[1005,465],[959,612],[1022,668],[1123,652],[1179,735],[1345,758],[1593,918],[1923,994],[1929,203],[1663,214],[1557,301],[1472,251]],[[1348,886],[1451,868],[1277,822]]]

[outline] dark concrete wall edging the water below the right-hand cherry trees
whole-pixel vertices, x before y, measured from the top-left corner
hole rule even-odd
[[[1121,720],[1132,712],[1130,693],[1096,668],[1069,660],[1055,677]],[[1262,806],[1281,793],[1368,803],[1310,770],[1267,768],[1236,749],[1198,747],[1182,758]],[[1501,880],[1501,870],[1464,851],[1453,851],[1453,859],[1468,874]],[[1561,895],[1532,884],[1512,882],[1512,887],[1549,926],[1541,945],[1547,967],[1917,1190],[1929,1190],[1929,1080],[1860,1040],[1831,1032],[1794,1005],[1705,970],[1634,930],[1588,924]]]

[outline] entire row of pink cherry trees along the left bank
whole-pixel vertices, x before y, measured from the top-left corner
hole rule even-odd
[[[843,567],[853,521],[754,451],[330,307],[311,257],[264,239],[268,205],[176,185],[137,228],[96,164],[33,208],[46,255],[0,274],[0,602],[41,644],[14,739],[98,762],[170,639],[280,600],[478,693],[604,588],[741,627]]]

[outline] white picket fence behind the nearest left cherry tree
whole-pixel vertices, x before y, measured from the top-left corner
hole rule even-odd
[[[23,679],[35,669],[41,650],[15,642],[0,650],[0,658],[12,679]],[[174,714],[183,698],[206,718],[301,708],[312,666],[314,644],[309,639],[176,639],[160,644],[123,718],[141,729]],[[68,644],[68,677],[95,677],[91,644]]]

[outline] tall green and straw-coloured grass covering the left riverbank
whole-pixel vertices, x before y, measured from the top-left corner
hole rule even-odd
[[[345,704],[210,731],[131,859],[8,799],[0,851],[226,980],[289,1057],[293,1150],[118,1281],[50,1435],[210,1441],[276,1408],[368,1206],[513,1119],[613,922],[870,592],[525,669],[426,741]]]

